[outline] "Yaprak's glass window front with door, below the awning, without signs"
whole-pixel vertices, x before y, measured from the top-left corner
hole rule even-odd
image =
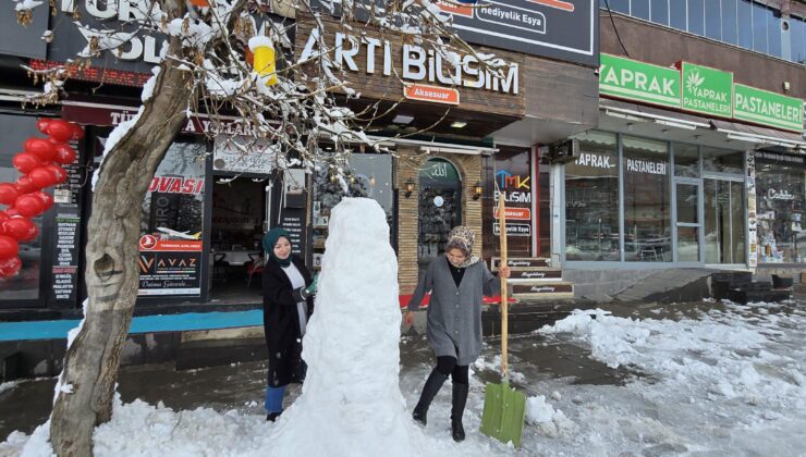
[[[564,261],[747,262],[745,151],[612,132],[564,166]]]

